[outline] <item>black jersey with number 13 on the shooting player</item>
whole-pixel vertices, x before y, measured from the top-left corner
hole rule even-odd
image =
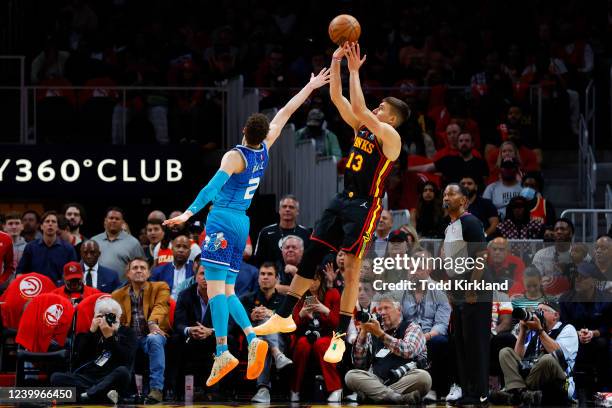
[[[382,197],[393,162],[384,155],[376,135],[359,128],[344,171],[344,191],[349,197]]]

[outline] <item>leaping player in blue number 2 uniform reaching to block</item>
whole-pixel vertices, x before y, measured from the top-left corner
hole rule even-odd
[[[227,346],[229,315],[240,325],[249,344],[247,379],[257,378],[264,368],[268,343],[257,338],[242,303],[234,293],[249,233],[250,221],[246,210],[268,165],[269,149],[291,115],[312,91],[327,84],[329,78],[329,69],[326,68],[317,76],[311,75],[310,82],[278,111],[270,123],[265,115],[251,115],[243,129],[242,144],[225,153],[219,170],[189,208],[164,222],[169,226],[182,224],[213,201],[213,209],[206,220],[206,240],[202,244],[202,264],[206,270],[217,340],[215,361],[206,381],[209,387],[238,365]]]

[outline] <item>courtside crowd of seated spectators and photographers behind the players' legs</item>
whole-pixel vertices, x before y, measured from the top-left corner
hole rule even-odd
[[[462,182],[477,194],[473,178],[464,177]],[[424,186],[433,187],[423,188],[423,192],[435,197],[435,185]],[[429,198],[428,201],[433,201]],[[522,200],[520,208],[516,198]],[[519,209],[524,212],[526,203],[522,195],[513,198],[508,216],[497,230],[507,221],[522,220]],[[283,197],[279,202],[279,222],[262,229],[254,251],[245,251],[238,277],[242,283],[236,285],[236,293],[254,324],[264,322],[279,307],[297,272],[309,234],[308,228],[297,223],[299,205],[297,197]],[[444,218],[441,202],[437,201],[436,205]],[[414,274],[392,268],[378,275],[373,268],[373,259],[381,256],[395,259],[406,254],[425,260],[440,255],[436,246],[440,240],[421,241],[427,236],[417,232],[423,217],[434,212],[420,207],[418,214],[413,218],[416,228],[408,224],[396,225],[394,229],[392,214],[383,211],[370,253],[363,263],[355,307],[355,316],[359,311],[365,312],[370,321],[355,318],[351,323],[345,359],[336,365],[322,358],[338,319],[339,298],[344,287],[343,253],[330,252],[310,290],[295,309],[297,331],[291,335],[264,337],[270,354],[255,387],[247,388],[252,389],[252,394],[246,397],[255,402],[283,398],[294,402],[313,398],[336,402],[344,395],[349,400],[388,403],[416,403],[424,398],[451,402],[461,397],[453,363],[453,331],[449,327],[452,306],[445,291],[421,286],[414,290],[384,291],[377,282],[412,280],[433,284],[446,281],[446,272],[426,262]],[[71,220],[68,235],[58,228],[58,219],[62,217]],[[103,220],[104,231],[91,239],[81,232],[85,224],[84,209],[77,203],[66,205],[63,213],[48,211],[39,216],[27,211],[4,217],[5,232],[0,236],[7,240],[0,254],[3,261],[0,276],[5,298],[12,299],[12,293],[21,287],[19,282],[27,276],[48,280],[49,290],[75,307],[90,297],[95,301],[104,293],[111,294],[116,304],[106,301],[99,307],[118,307],[121,312],[117,310],[113,314],[119,323],[103,323],[100,318],[103,313],[94,316],[87,336],[124,338],[124,347],[140,350],[136,362],[113,363],[105,370],[85,370],[82,374],[86,378],[75,377],[78,373],[74,372],[57,372],[51,376],[56,385],[77,386],[83,401],[111,396],[128,398],[135,390],[121,382],[126,375],[133,378],[135,372],[146,373],[144,395],[148,402],[181,399],[185,397],[186,378],[191,381],[195,378],[195,389],[199,392],[212,365],[210,356],[215,342],[204,267],[199,257],[191,258],[191,248],[198,247],[203,229],[195,225],[174,230],[161,227],[158,221],[166,218],[161,211],[151,212],[149,217],[153,218],[146,221],[140,240],[127,232],[123,211],[118,207],[108,209]],[[26,232],[24,225],[30,218],[32,225]],[[444,225],[439,228],[442,232],[445,229]],[[39,230],[42,236],[37,238]],[[561,218],[553,222],[552,242],[546,243],[539,236],[537,251],[533,245],[509,241],[503,234],[494,235],[488,243],[489,276],[494,282],[508,283],[508,290],[494,293],[491,311],[490,385],[496,401],[545,402],[550,387],[566,378],[566,366],[557,367],[555,363],[559,358],[565,358],[573,367],[572,384],[575,381],[578,390],[573,396],[589,399],[594,392],[612,385],[609,372],[612,366],[612,238],[604,235],[594,243],[577,243],[573,235],[571,221]],[[169,252],[163,253],[164,245]],[[9,301],[9,306],[3,304],[2,308],[10,308],[11,304]],[[538,320],[542,328],[532,321],[513,320],[513,310],[519,309],[543,313],[540,315],[543,320]],[[3,311],[3,316],[5,313],[9,312]],[[551,332],[553,329],[558,330]],[[555,336],[559,337],[557,346],[544,343],[548,353],[561,350],[557,360],[537,360],[542,361],[538,364],[548,364],[538,372],[545,370],[554,375],[527,376],[520,371],[522,368],[516,368],[518,361],[525,360],[522,356],[527,351],[532,353],[531,348],[535,347],[528,345],[533,338],[530,330],[536,333],[545,330],[553,341]],[[244,355],[245,339],[234,324],[230,324],[230,338],[230,348],[237,355]],[[81,341],[90,344],[92,340],[87,337],[74,345],[75,350],[80,350],[78,358],[91,357],[94,350],[83,351]],[[105,349],[118,347],[113,341],[102,341],[99,344],[103,346],[96,350],[103,355]],[[385,354],[378,354],[381,349],[390,350],[391,360],[381,358]],[[194,358],[184,358],[187,355]],[[406,376],[395,378],[390,374],[390,367],[407,362],[413,362],[416,367]],[[147,367],[146,371],[142,367]],[[74,378],[80,382],[74,382]],[[101,384],[105,385],[100,385],[96,378],[104,378]],[[206,389],[202,398],[235,398],[237,378],[230,376],[220,385]],[[285,394],[283,389],[289,393]],[[327,393],[317,394],[317,390]],[[111,391],[114,393],[109,396]]]

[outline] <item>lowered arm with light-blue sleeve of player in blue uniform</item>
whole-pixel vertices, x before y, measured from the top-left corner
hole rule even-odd
[[[229,152],[225,153],[223,155],[223,159],[221,159],[221,166],[219,166],[219,170],[217,170],[208,184],[206,184],[206,186],[200,190],[200,193],[194,202],[191,203],[184,213],[178,217],[170,218],[169,220],[164,221],[163,224],[172,226],[176,224],[183,224],[189,220],[193,214],[199,212],[206,206],[206,204],[211,202],[216,197],[232,174],[240,173],[244,170],[244,168],[244,159],[240,153],[238,153],[236,150],[230,150]]]

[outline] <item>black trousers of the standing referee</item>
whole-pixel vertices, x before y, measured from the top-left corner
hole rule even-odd
[[[463,396],[489,395],[491,302],[453,305],[452,323]]]

